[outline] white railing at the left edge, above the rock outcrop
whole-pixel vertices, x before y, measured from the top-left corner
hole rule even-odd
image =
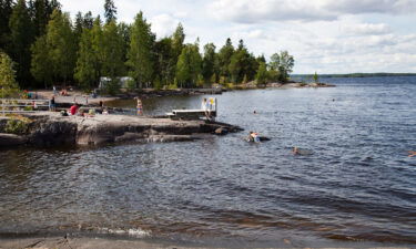
[[[49,110],[49,100],[0,98],[0,113],[34,113]]]

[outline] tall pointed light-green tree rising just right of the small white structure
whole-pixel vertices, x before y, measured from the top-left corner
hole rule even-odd
[[[126,65],[130,66],[130,75],[139,83],[140,87],[152,82],[155,63],[154,40],[155,35],[152,33],[150,24],[140,12],[132,25],[126,62]]]

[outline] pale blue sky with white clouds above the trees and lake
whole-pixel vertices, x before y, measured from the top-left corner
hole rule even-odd
[[[72,17],[103,17],[102,1],[61,0]],[[143,11],[158,39],[177,23],[185,42],[217,50],[240,39],[268,59],[287,50],[293,73],[416,73],[416,0],[114,0],[118,20]]]

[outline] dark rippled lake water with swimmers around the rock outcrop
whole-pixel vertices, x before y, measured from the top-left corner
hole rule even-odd
[[[416,245],[416,77],[216,95],[245,132],[203,141],[0,151],[0,238],[226,247]],[[202,96],[144,100],[145,114]],[[134,102],[115,103],[134,106]],[[257,114],[253,114],[253,111]],[[248,131],[271,138],[243,141]],[[294,156],[293,146],[308,155]]]

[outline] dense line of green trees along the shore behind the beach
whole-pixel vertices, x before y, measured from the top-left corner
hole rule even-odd
[[[213,83],[284,82],[294,66],[286,51],[270,62],[251,53],[243,40],[231,39],[216,51],[199,39],[184,43],[179,24],[170,37],[156,39],[151,23],[139,12],[131,24],[118,22],[112,0],[104,2],[104,20],[89,11],[71,20],[57,0],[0,0],[0,50],[14,61],[21,87],[72,84],[84,90],[100,77],[131,76],[129,87],[195,87]]]

